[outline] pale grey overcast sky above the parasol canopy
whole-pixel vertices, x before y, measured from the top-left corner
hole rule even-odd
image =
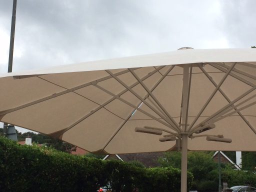
[[[13,70],[193,48],[256,45],[256,0],[17,0]],[[0,0],[0,73],[12,0]]]

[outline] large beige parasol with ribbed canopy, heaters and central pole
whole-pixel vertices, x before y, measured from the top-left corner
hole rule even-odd
[[[181,49],[12,72],[0,75],[0,119],[90,152],[179,146],[183,192],[187,149],[256,150],[255,74],[253,48]]]

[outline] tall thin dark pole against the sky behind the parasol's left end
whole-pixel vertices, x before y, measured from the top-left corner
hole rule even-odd
[[[17,5],[17,0],[13,0],[12,16],[11,16],[11,28],[10,28],[10,48],[9,48],[8,72],[12,71],[14,33],[15,33],[15,21],[16,21],[16,5]],[[8,124],[4,122],[3,123],[3,134],[5,136],[7,136],[7,133],[8,133]]]

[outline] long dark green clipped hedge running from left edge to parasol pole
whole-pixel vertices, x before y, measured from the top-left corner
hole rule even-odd
[[[97,191],[105,185],[113,192],[179,191],[180,170],[71,155],[0,136],[0,191]]]

